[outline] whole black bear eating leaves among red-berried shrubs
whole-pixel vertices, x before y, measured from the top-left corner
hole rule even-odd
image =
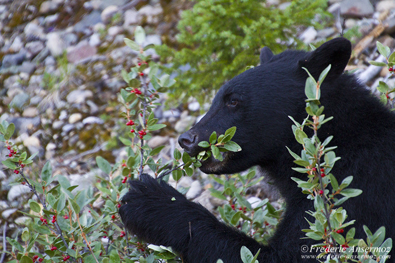
[[[333,120],[319,130],[319,136],[333,135],[331,145],[341,156],[332,173],[339,181],[353,175],[352,188],[363,193],[347,200],[343,207],[349,219],[356,219],[356,237],[366,238],[362,226],[372,231],[386,227],[386,237],[395,238],[395,115],[361,85],[356,77],[343,74],[351,54],[345,38],[334,38],[311,52],[285,51],[278,55],[264,48],[261,65],[245,71],[227,82],[216,94],[207,114],[179,138],[190,155],[202,149],[198,143],[208,140],[213,131],[223,134],[236,126],[233,141],[242,147],[229,152],[224,160],[209,158],[200,168],[205,173],[241,172],[252,166],[264,170],[286,200],[285,214],[269,245],[229,227],[199,204],[188,201],[164,182],[144,175],[131,182],[120,208],[127,229],[157,245],[170,246],[184,262],[241,262],[240,249],[246,246],[258,260],[265,262],[317,262],[305,259],[302,245],[314,241],[301,239],[301,229],[308,228],[305,211],[313,210],[291,177],[306,179],[295,167],[286,146],[301,151],[295,141],[288,115],[301,121],[306,117],[304,86],[305,67],[318,79],[331,64],[321,86],[321,103],[326,116]],[[174,200],[174,198],[175,200]],[[394,254],[387,262],[394,262]]]

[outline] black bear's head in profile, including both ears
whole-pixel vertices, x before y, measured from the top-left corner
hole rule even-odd
[[[261,50],[261,65],[235,76],[215,95],[212,105],[198,124],[179,138],[179,144],[191,156],[215,131],[217,134],[236,126],[232,140],[240,152],[223,153],[223,161],[213,156],[202,162],[205,173],[235,173],[255,165],[265,166],[278,158],[293,139],[288,115],[306,116],[304,86],[307,68],[315,79],[331,64],[324,90],[338,85],[351,55],[350,42],[342,37],[324,43],[312,52],[287,50],[278,55],[267,47]],[[322,92],[322,96],[325,92]]]

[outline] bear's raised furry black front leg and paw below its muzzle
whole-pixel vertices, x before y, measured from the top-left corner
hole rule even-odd
[[[171,247],[185,262],[241,262],[240,249],[264,249],[253,238],[218,221],[207,209],[188,201],[166,182],[149,175],[131,181],[120,215],[126,228],[155,245]]]

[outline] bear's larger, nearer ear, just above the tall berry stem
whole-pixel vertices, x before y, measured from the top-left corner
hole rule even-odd
[[[336,78],[343,73],[350,56],[351,43],[344,37],[338,37],[310,52],[305,59],[299,60],[298,66],[299,69],[307,68],[310,74],[318,79],[321,72],[330,64],[331,68],[326,78]]]

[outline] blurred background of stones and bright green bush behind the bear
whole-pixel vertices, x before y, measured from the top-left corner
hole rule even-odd
[[[152,148],[166,145],[165,161],[215,91],[258,65],[264,46],[274,53],[311,50],[310,44],[344,35],[353,44],[346,69],[356,70],[372,91],[380,80],[394,86],[386,67],[367,62],[384,61],[377,41],[394,47],[395,0],[0,0],[0,122],[15,124],[15,144],[38,152],[27,172],[50,160],[54,175],[90,188],[100,173],[95,156],[111,163],[126,156],[117,139],[128,132],[117,93],[126,87],[121,70],[137,63],[124,43],[136,26],[147,33],[145,45],[156,45],[148,53],[176,80],[157,99],[155,117],[167,127],[148,141]],[[1,160],[8,155],[5,147],[0,153]],[[7,234],[23,221],[17,210],[30,192],[9,186],[16,177],[0,170],[0,224],[9,222]],[[179,185],[191,186],[188,197],[213,209],[219,200],[205,192],[210,184],[196,171]],[[258,188],[256,197],[280,207],[270,187]]]

